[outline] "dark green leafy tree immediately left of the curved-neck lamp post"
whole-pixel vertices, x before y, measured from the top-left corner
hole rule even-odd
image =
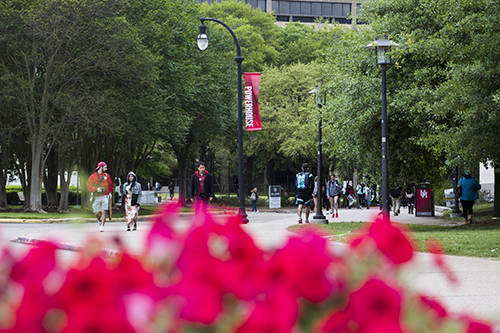
[[[143,42],[160,58],[156,103],[165,121],[160,138],[175,153],[184,195],[201,147],[236,130],[234,43],[226,39],[227,31],[210,26],[208,49],[198,49],[198,6],[190,0],[147,0],[128,8],[130,20],[142,26]]]

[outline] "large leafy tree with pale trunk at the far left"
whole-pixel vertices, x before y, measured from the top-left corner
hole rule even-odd
[[[145,50],[119,15],[120,6],[114,0],[12,0],[0,7],[8,89],[22,105],[31,146],[31,211],[43,211],[43,168],[56,138],[75,116],[68,111],[86,109],[74,107],[78,93],[96,86],[102,90],[109,79],[124,85],[143,81],[151,72]]]

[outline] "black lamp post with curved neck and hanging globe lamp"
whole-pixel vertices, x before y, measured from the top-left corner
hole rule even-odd
[[[241,90],[241,63],[244,58],[241,56],[241,48],[238,38],[234,31],[224,22],[213,18],[200,18],[201,25],[198,27],[199,34],[197,38],[198,47],[200,50],[205,50],[208,47],[207,27],[205,21],[213,21],[223,25],[233,36],[234,44],[236,45],[236,57],[234,61],[238,64],[238,193],[239,193],[239,207],[238,215],[243,219],[243,223],[248,223],[247,214],[245,212],[245,191],[243,179],[243,167],[245,161],[243,160],[243,94]]]

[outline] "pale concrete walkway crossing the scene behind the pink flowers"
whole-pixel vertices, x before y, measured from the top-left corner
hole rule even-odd
[[[341,209],[339,218],[332,218],[329,215],[327,218],[330,223],[371,221],[378,212],[378,209]],[[267,211],[257,214],[248,211],[248,218],[250,223],[244,225],[243,228],[252,235],[259,246],[268,249],[282,246],[288,237],[293,235],[286,230],[286,227],[297,224],[295,210],[280,210],[279,213]],[[415,217],[407,214],[405,210],[402,210],[398,217],[391,217],[391,220],[407,224],[457,224],[443,220],[439,214],[436,217]],[[179,225],[181,228],[187,228],[189,224],[190,217],[185,216],[180,220]],[[10,246],[14,254],[23,255],[30,246],[10,242],[21,235],[56,239],[75,245],[83,245],[89,238],[97,238],[110,249],[116,248],[113,238],[118,236],[132,252],[140,252],[145,246],[145,236],[150,226],[150,222],[140,222],[138,231],[127,232],[124,222],[111,222],[106,224],[104,233],[99,233],[97,223],[2,223],[0,242],[2,246]],[[334,250],[341,250],[345,245],[332,242],[332,247]],[[58,252],[58,260],[63,266],[71,265],[77,258],[77,254],[71,251]],[[410,288],[436,297],[451,312],[457,314],[467,312],[479,318],[500,323],[500,261],[455,256],[446,256],[446,260],[458,275],[459,284],[456,286],[448,282],[444,274],[432,263],[431,256],[425,253],[416,254],[413,262],[405,267],[402,278]]]

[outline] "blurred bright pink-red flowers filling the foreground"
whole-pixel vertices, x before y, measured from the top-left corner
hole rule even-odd
[[[374,221],[332,253],[313,233],[275,251],[256,246],[234,216],[197,207],[187,232],[163,206],[143,253],[107,262],[90,242],[69,270],[44,242],[1,256],[0,325],[8,332],[491,332],[409,290],[397,272],[413,255],[399,227]],[[436,264],[446,264],[434,246]]]

